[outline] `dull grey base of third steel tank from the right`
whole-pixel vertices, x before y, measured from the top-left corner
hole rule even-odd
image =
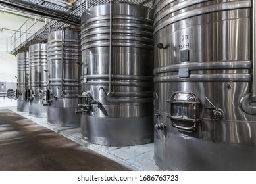
[[[47,121],[53,126],[80,127],[80,114],[75,114],[75,108],[48,107]]]

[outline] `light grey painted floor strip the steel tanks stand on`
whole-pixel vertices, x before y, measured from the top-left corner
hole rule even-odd
[[[156,166],[153,158],[153,143],[146,145],[136,145],[130,147],[106,147],[102,145],[94,145],[85,141],[80,133],[78,127],[56,127],[47,124],[47,118],[37,118],[29,116],[28,112],[17,112],[16,108],[9,108],[13,112],[36,122],[37,124],[47,127],[64,137],[86,147],[87,149],[93,150],[98,154],[101,154],[122,166],[125,166],[131,170],[145,170],[145,171],[156,171],[159,168]]]

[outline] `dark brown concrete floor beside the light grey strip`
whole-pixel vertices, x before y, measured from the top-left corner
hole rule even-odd
[[[11,110],[0,110],[0,170],[129,170]]]

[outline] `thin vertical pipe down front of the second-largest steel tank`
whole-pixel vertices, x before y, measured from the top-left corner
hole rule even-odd
[[[109,1],[109,93],[112,88],[112,0]]]

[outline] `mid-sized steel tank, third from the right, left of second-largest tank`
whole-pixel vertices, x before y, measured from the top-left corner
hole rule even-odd
[[[80,94],[80,31],[58,30],[48,35],[49,79],[46,91],[48,122],[55,126],[80,126],[75,114]]]

